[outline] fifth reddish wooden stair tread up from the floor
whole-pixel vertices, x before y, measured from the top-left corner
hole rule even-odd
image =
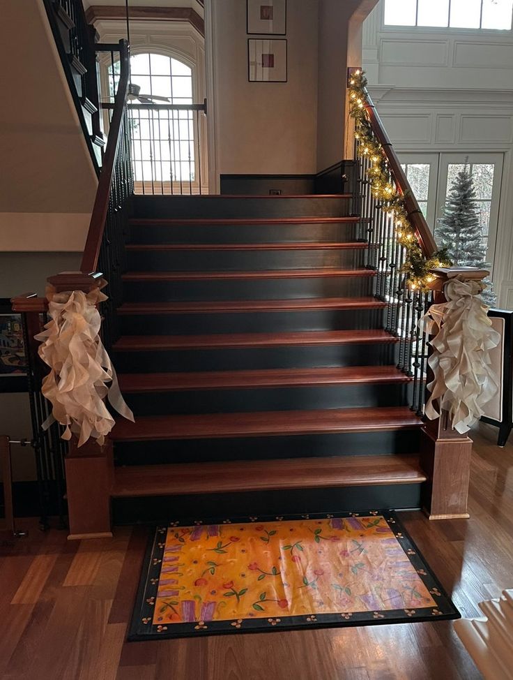
[[[302,311],[307,309],[380,309],[376,297],[307,297],[291,300],[206,300],[202,302],[125,302],[118,314],[212,313],[229,311]]]

